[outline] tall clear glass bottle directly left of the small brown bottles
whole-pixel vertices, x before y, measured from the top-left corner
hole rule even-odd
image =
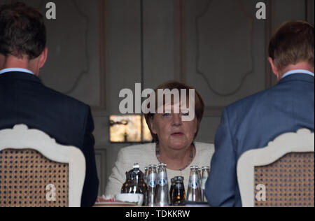
[[[169,205],[169,185],[167,183],[167,164],[159,164],[158,166],[158,183],[155,194],[155,206]]]

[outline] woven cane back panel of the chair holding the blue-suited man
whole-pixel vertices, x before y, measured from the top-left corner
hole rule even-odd
[[[266,201],[255,207],[314,207],[314,152],[289,153],[255,167],[255,187],[265,185]],[[255,190],[255,196],[259,190]]]

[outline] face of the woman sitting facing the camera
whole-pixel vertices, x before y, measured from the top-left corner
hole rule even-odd
[[[158,135],[160,145],[167,146],[175,150],[187,148],[193,143],[197,133],[197,118],[192,121],[183,121],[184,113],[172,113],[154,115],[151,120],[151,129]]]

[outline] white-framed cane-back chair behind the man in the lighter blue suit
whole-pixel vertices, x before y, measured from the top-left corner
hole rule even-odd
[[[244,207],[314,207],[314,133],[300,129],[239,157]]]

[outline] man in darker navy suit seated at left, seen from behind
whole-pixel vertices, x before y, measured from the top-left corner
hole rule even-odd
[[[99,180],[90,107],[41,83],[45,43],[41,13],[23,3],[0,6],[0,129],[27,124],[59,144],[80,148],[86,160],[81,206],[93,206]]]

